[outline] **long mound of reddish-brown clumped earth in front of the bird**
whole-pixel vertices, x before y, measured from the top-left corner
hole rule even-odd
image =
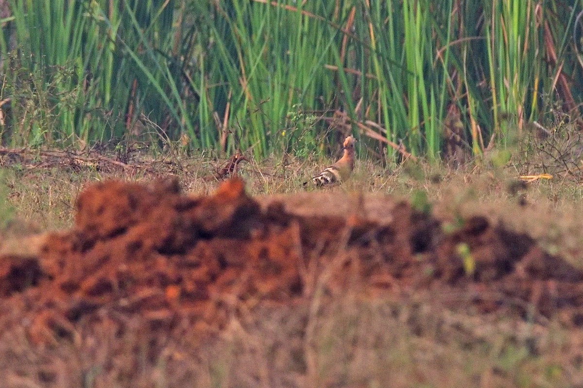
[[[451,308],[524,317],[534,308],[583,325],[583,272],[531,237],[482,216],[445,232],[430,213],[383,201],[381,222],[358,207],[315,215],[261,203],[239,179],[199,197],[174,180],[94,184],[71,230],[0,257],[0,330],[50,346],[79,341],[80,322],[139,316],[156,332],[188,325],[202,338],[224,328],[233,305],[292,304],[355,283],[370,298],[452,291],[465,297]]]

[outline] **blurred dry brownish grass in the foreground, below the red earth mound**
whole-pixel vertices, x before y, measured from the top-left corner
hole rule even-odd
[[[125,322],[91,339],[38,350],[26,336],[2,336],[8,387],[555,387],[583,382],[581,341],[553,322],[463,315],[435,296],[409,302],[339,295],[310,315],[306,305],[233,314],[200,346],[196,332],[149,341]],[[312,301],[313,302],[313,301]],[[313,325],[311,340],[303,329]],[[308,360],[313,359],[313,365]]]

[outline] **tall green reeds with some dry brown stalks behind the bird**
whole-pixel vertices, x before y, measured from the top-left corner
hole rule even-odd
[[[476,156],[578,115],[578,6],[11,0],[0,133],[76,148],[150,134],[263,158],[318,152],[338,129],[430,160],[455,138]]]

